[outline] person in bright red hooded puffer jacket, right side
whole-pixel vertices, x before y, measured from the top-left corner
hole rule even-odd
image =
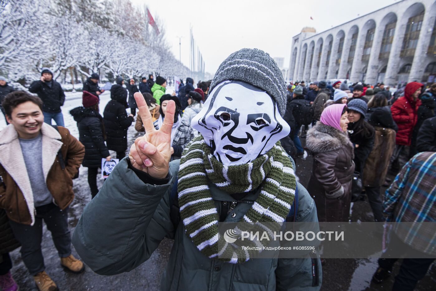
[[[404,156],[404,162],[410,158],[407,149],[412,142],[412,131],[418,121],[417,112],[419,105],[421,105],[418,96],[421,94],[423,86],[424,84],[418,82],[407,84],[404,89],[404,96],[398,98],[392,104],[392,118],[398,125],[395,151],[391,158],[392,172],[396,173],[400,169],[399,156]]]

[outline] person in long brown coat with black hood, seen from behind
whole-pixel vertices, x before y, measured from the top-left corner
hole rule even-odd
[[[395,135],[398,126],[392,118],[388,100],[382,93],[377,93],[368,102],[369,124],[374,126],[374,147],[366,159],[363,171],[363,186],[368,202],[374,213],[375,221],[382,221],[382,197],[380,186],[383,185],[388,172],[389,160],[395,149]]]

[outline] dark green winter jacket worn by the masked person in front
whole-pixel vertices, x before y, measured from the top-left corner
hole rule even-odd
[[[164,237],[174,239],[161,290],[319,290],[321,264],[310,254],[299,259],[251,259],[231,264],[210,259],[185,234],[182,222],[174,228],[170,220],[170,190],[180,160],[170,162],[169,182],[145,184],[129,168],[127,158],[119,162],[99,194],[85,207],[73,234],[73,245],[82,260],[97,274],[113,275],[133,270],[148,260]],[[317,221],[315,203],[298,183],[296,221]],[[209,184],[218,213],[234,199]],[[260,190],[244,197],[255,200]],[[227,202],[227,203],[223,203]],[[226,206],[226,207],[227,207]],[[238,203],[225,221],[235,222],[251,204]],[[313,286],[315,285],[315,286]]]

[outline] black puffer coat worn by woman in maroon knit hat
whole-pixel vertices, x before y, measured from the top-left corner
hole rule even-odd
[[[76,107],[70,114],[77,122],[79,141],[85,146],[84,167],[98,168],[102,164],[102,158],[109,156],[103,138],[103,118],[99,112],[92,108]]]

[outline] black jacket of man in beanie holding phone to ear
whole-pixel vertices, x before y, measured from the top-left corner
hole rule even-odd
[[[51,75],[53,76],[53,74]],[[51,86],[48,82],[34,81],[29,87],[29,92],[36,93],[41,98],[43,112],[60,113],[61,106],[65,102],[64,90],[62,90],[61,84],[53,79],[51,79],[50,83]]]

